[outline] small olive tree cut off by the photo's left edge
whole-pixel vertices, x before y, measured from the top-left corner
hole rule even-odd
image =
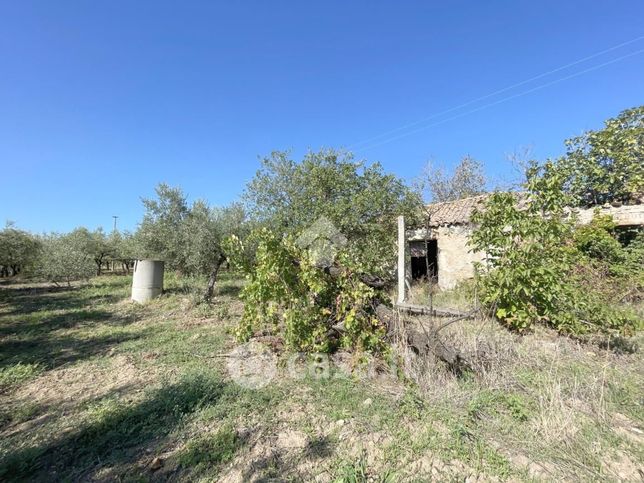
[[[40,243],[33,235],[7,223],[0,231],[0,274],[17,275],[32,268],[39,249]]]

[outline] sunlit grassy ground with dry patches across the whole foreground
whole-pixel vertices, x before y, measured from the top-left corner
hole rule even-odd
[[[146,305],[130,284],[0,285],[0,480],[644,478],[640,353],[477,320],[444,334],[485,347],[476,375],[281,353],[253,389],[228,371],[238,280],[225,274],[212,306],[191,280],[168,277]]]

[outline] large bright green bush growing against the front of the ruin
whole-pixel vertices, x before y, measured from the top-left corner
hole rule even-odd
[[[601,278],[600,261],[619,269],[637,255],[629,258],[621,248],[611,220],[577,227],[566,209],[564,182],[554,163],[533,165],[526,193],[495,193],[474,214],[471,244],[487,254],[479,266],[483,303],[519,331],[542,322],[574,334],[629,332],[641,321],[587,282]]]

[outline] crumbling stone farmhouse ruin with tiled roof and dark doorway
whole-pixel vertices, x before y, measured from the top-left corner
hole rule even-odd
[[[406,230],[408,256],[406,278],[430,278],[440,289],[454,288],[459,282],[474,277],[474,262],[482,261],[484,254],[472,252],[468,240],[474,230],[472,213],[481,209],[489,195],[427,206],[428,222],[424,227]],[[611,215],[620,230],[644,226],[644,204],[604,205],[574,209],[578,222],[589,223],[595,209]]]

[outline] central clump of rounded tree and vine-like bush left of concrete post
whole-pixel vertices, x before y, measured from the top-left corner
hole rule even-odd
[[[375,307],[393,274],[396,216],[416,218],[418,196],[377,164],[323,150],[299,164],[273,153],[246,199],[263,228],[229,244],[248,277],[237,335],[268,329],[297,350],[384,350]]]

